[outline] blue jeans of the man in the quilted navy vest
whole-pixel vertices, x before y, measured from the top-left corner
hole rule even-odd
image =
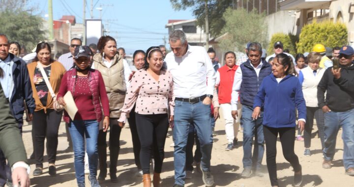
[[[243,168],[259,169],[264,155],[263,112],[257,120],[252,119],[253,108],[243,105],[241,122],[243,125]],[[255,138],[253,156],[252,141]]]

